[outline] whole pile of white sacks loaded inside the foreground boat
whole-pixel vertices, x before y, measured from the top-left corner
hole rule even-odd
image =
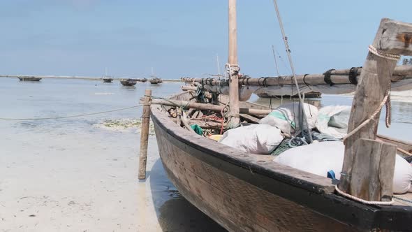
[[[252,154],[270,154],[290,135],[300,130],[298,104],[286,104],[273,110],[260,119],[260,124],[251,124],[231,129],[223,133],[219,143],[235,147]],[[304,104],[309,129],[334,138],[344,138],[348,131],[350,106],[327,106],[318,110],[315,106]],[[294,147],[274,158],[279,164],[297,168],[308,173],[328,176],[333,171],[339,180],[344,161],[344,144],[341,141],[312,143]],[[412,191],[412,166],[398,154],[395,160],[393,191],[403,194]]]

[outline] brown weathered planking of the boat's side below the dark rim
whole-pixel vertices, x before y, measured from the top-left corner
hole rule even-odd
[[[318,215],[292,201],[270,194],[205,164],[179,150],[164,137],[158,139],[162,145],[161,156],[166,168],[169,168],[179,184],[187,189],[186,194],[191,195],[188,197],[192,199],[192,203],[195,205],[198,205],[199,201],[207,203],[213,211],[211,217],[217,221],[219,218],[228,219],[232,226],[235,224],[237,230],[243,231],[300,231],[315,228],[319,231],[328,228],[345,231],[348,229],[344,224]],[[292,219],[290,214],[300,218],[300,222],[296,224],[290,221]],[[226,228],[230,229],[232,226],[226,225]]]

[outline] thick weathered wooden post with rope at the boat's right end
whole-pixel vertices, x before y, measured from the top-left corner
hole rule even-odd
[[[386,54],[411,55],[411,42],[412,24],[384,18],[372,45]],[[390,77],[396,63],[396,60],[368,53],[353,99],[348,132],[378,110],[390,88]],[[392,198],[396,150],[388,143],[374,141],[380,114],[381,110],[368,124],[346,139],[339,182],[341,191],[367,201],[390,201]],[[382,161],[387,163],[384,167],[379,164]],[[375,181],[381,177],[382,180]]]

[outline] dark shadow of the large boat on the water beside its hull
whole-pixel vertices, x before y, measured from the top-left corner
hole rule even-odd
[[[147,172],[162,231],[226,231],[179,194],[157,159]]]

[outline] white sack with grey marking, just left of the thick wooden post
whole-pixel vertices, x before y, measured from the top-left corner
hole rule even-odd
[[[316,129],[334,138],[344,138],[348,133],[351,106],[326,106],[318,113]]]

